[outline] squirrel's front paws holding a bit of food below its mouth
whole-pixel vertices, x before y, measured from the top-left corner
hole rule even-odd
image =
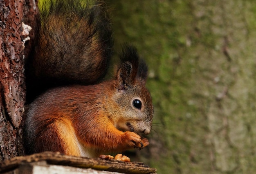
[[[125,132],[128,140],[128,146],[129,147],[134,147],[134,148],[139,148],[142,149],[149,145],[148,139],[144,138],[142,139],[138,134],[134,132],[127,131]]]

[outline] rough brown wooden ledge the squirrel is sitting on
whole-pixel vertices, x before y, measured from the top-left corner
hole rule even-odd
[[[43,162],[43,163],[37,163]],[[29,156],[17,156],[9,160],[0,162],[0,173],[12,173],[13,170],[18,170],[22,165],[57,165],[69,166],[78,169],[89,169],[97,171],[108,171],[103,173],[119,172],[125,174],[155,174],[156,169],[144,165],[139,162],[123,162],[117,160],[103,160],[100,158],[86,158],[79,156],[67,156],[58,152],[43,152],[32,154]],[[80,171],[79,170],[79,171]],[[77,172],[81,173],[81,172]],[[85,172],[86,173],[86,172]],[[75,174],[75,172],[74,172]]]

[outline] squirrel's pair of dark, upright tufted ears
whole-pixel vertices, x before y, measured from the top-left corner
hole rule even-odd
[[[139,62],[139,55],[134,46],[125,45],[120,56],[121,66],[117,71],[117,88],[126,89],[135,81],[146,84],[148,68],[144,61]]]

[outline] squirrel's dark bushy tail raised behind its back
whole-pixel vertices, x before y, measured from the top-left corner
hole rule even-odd
[[[48,0],[36,30],[25,66],[28,103],[48,88],[95,84],[106,75],[112,31],[102,1]]]

